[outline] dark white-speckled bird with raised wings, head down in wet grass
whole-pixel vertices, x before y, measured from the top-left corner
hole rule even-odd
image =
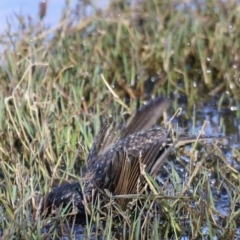
[[[174,149],[197,139],[185,133],[178,134],[173,128],[153,127],[172,100],[173,97],[162,96],[150,100],[124,128],[106,121],[89,152],[83,171],[84,187],[74,182],[53,188],[44,198],[42,209],[47,209],[49,213],[49,209],[71,203],[77,209],[76,218],[85,223],[86,202],[91,202],[96,194],[102,195],[104,189],[113,196],[136,194],[139,181],[144,181],[141,166],[144,166],[145,172],[156,176]],[[200,136],[198,139],[214,138],[218,136]],[[128,200],[118,199],[117,202],[123,210],[126,209]]]

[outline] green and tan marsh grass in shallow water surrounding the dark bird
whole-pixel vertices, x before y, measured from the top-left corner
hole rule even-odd
[[[8,26],[0,36],[3,239],[64,235],[73,239],[76,229],[66,221],[64,211],[56,216],[58,224],[41,218],[41,197],[58,184],[81,180],[81,166],[102,119],[111,115],[121,122],[123,114],[134,112],[140,101],[172,92],[188,98],[177,119],[180,129],[193,126],[188,131],[195,132],[194,126],[201,122],[194,120],[194,107],[200,109],[200,102],[215,99],[220,113],[235,107],[232,121],[218,115],[218,124],[235,147],[229,143],[226,150],[211,145],[176,151],[157,180],[144,175],[158,194],[131,196],[141,204],[132,203],[126,212],[114,196],[104,206],[99,200],[91,206],[82,235],[85,239],[238,236],[240,17],[236,4],[211,0],[205,8],[179,1],[141,1],[132,6],[115,1],[91,16],[84,16],[84,5],[76,6],[78,14],[66,7],[53,29],[20,16],[16,29]],[[169,114],[179,105],[175,101]],[[216,204],[223,192],[229,197],[227,215]],[[50,221],[53,224],[47,228]]]

